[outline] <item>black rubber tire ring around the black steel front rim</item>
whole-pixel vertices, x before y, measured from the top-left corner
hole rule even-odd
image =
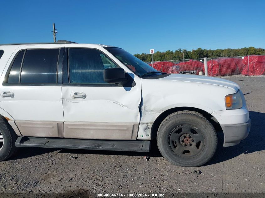
[[[161,154],[171,163],[181,166],[200,166],[208,162],[215,153],[217,146],[216,132],[213,126],[207,122],[201,114],[173,114],[169,119],[165,119],[158,129],[157,145]],[[205,120],[204,120],[204,119]],[[175,154],[169,145],[169,136],[176,127],[190,124],[198,128],[204,135],[204,149],[193,158],[182,158]]]

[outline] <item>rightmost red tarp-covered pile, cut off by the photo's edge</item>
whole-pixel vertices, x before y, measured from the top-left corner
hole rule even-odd
[[[248,75],[265,75],[265,56],[251,55],[243,58],[242,75],[247,75],[247,65],[249,64]]]

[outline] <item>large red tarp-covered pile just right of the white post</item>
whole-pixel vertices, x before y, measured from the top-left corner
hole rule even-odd
[[[213,74],[212,74],[213,63]],[[242,58],[216,58],[207,61],[208,75],[209,76],[226,76],[241,74],[242,71]],[[204,71],[204,68],[203,68]]]

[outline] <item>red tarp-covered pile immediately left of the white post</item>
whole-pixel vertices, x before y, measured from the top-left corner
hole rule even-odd
[[[204,64],[198,60],[190,60],[187,62],[181,62],[176,64],[175,66],[172,66],[169,70],[168,73],[171,74],[178,74],[178,66],[179,66],[179,72],[183,71],[196,71],[196,74],[199,74],[200,71],[203,71],[204,69]]]

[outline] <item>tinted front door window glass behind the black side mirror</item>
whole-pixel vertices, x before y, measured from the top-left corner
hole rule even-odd
[[[70,48],[70,83],[106,83],[104,69],[117,67],[108,57],[96,49]]]

